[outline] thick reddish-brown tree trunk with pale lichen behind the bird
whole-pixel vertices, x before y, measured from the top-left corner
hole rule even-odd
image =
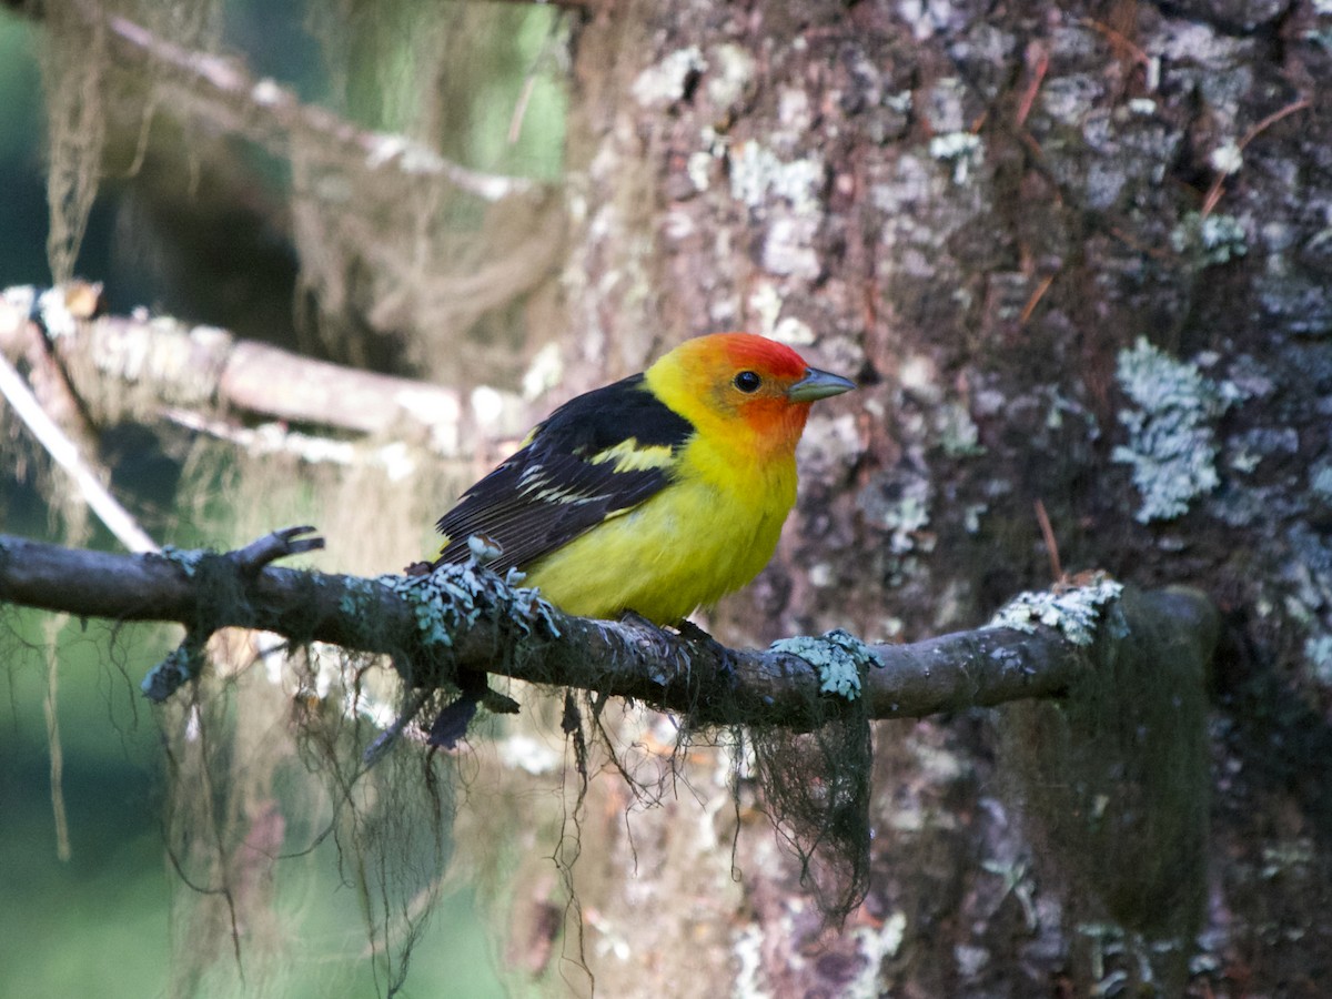
[[[1177,860],[1189,902],[1156,896],[1169,926],[1042,862],[1051,827],[1031,787],[1000,787],[990,721],[882,725],[854,924],[821,936],[791,864],[757,847],[742,887],[709,903],[738,919],[707,939],[746,988],[1327,980],[1329,20],[1312,0],[591,8],[570,369],[590,385],[682,336],[746,328],[867,385],[811,421],[797,530],[719,634],[914,639],[974,622],[1048,581],[1040,501],[1064,566],[1188,579],[1235,638],[1208,721],[1205,840],[1177,856],[1135,840]],[[1010,759],[1003,774],[1023,769]],[[638,848],[673,822],[674,806],[642,818]],[[606,838],[627,870],[634,840],[614,822]],[[582,903],[623,931],[643,882],[687,891],[669,876],[589,878]],[[633,967],[697,962],[677,930],[635,938]]]

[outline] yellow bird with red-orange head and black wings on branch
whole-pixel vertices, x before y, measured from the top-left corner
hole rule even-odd
[[[678,625],[771,559],[810,406],[854,388],[767,337],[686,340],[537,424],[440,518],[432,569],[473,558],[476,538],[498,550],[490,569],[518,569],[565,613]],[[433,726],[442,745],[465,730],[481,679]]]

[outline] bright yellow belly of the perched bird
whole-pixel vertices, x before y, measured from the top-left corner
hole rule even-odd
[[[794,461],[686,474],[539,559],[525,585],[570,614],[673,623],[758,575],[794,502]]]

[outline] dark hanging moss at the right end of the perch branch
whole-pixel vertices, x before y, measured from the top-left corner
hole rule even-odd
[[[1102,630],[1066,699],[1007,706],[1000,726],[1032,843],[1072,900],[1068,922],[1112,920],[1171,944],[1150,958],[1172,954],[1158,975],[1175,980],[1205,895],[1207,659],[1196,633],[1140,613],[1146,599],[1124,590],[1119,626]]]

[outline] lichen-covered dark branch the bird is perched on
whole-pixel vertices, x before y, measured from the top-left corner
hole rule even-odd
[[[1030,601],[1020,605],[1034,622],[1030,631],[984,627],[874,646],[831,633],[769,650],[725,649],[689,630],[570,617],[476,563],[449,574],[378,578],[269,565],[322,546],[302,537],[309,530],[276,531],[228,554],[112,554],[0,535],[0,601],[80,617],[180,622],[188,630],[186,651],[220,627],[264,629],[293,645],[320,641],[388,654],[417,687],[452,687],[460,670],[485,671],[634,698],[698,725],[809,730],[850,710],[848,693],[866,698],[871,718],[919,718],[1059,697],[1090,669],[1080,643],[1086,634],[1066,635],[1048,623],[1059,623],[1052,610],[1063,599],[1058,595],[1035,598],[1035,610]],[[1150,626],[1171,635],[1163,659],[1179,654],[1173,643],[1200,650],[1204,659],[1215,646],[1217,614],[1200,593],[1130,591],[1114,609],[1114,633]],[[838,657],[848,657],[842,665],[850,663],[859,682],[835,675],[829,663]],[[190,675],[189,665],[176,669],[182,670],[178,686]],[[161,699],[174,686],[148,693]]]

